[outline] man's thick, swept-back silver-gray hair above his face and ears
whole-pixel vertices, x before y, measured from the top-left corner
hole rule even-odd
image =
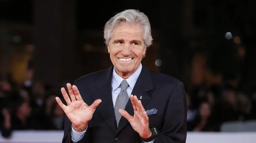
[[[122,23],[138,24],[143,28],[143,40],[146,47],[152,44],[151,26],[148,16],[143,12],[134,9],[127,9],[110,18],[104,27],[105,44],[109,46],[113,30]]]

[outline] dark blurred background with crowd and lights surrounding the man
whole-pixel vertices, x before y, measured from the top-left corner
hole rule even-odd
[[[66,83],[112,65],[103,27],[125,9],[139,9],[151,22],[154,42],[144,64],[185,85],[187,142],[194,131],[256,135],[255,5],[0,0],[0,138],[15,140],[18,130],[63,130],[65,114],[55,97]]]

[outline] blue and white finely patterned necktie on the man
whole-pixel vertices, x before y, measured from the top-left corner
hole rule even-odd
[[[119,121],[122,117],[122,115],[119,112],[119,109],[124,109],[128,100],[129,100],[129,96],[128,93],[126,91],[127,87],[129,86],[128,82],[124,79],[121,82],[121,91],[119,93],[119,95],[116,98],[116,104],[115,104],[115,116],[116,116],[116,126],[118,127]]]

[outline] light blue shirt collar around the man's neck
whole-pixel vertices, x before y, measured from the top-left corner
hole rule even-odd
[[[140,63],[140,67],[129,77],[126,79],[128,82],[129,86],[133,89],[135,86],[135,83],[137,79],[139,78],[140,72],[142,70],[142,64]],[[112,91],[116,90],[116,88],[119,87],[121,82],[123,81],[123,78],[118,75],[115,71],[115,67],[113,69],[113,78],[112,78]]]

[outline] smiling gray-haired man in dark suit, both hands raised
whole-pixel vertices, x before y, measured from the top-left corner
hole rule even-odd
[[[183,83],[141,63],[152,43],[148,17],[118,13],[106,23],[104,38],[113,66],[68,83],[71,100],[62,88],[67,105],[56,97],[67,117],[62,142],[185,143]]]

